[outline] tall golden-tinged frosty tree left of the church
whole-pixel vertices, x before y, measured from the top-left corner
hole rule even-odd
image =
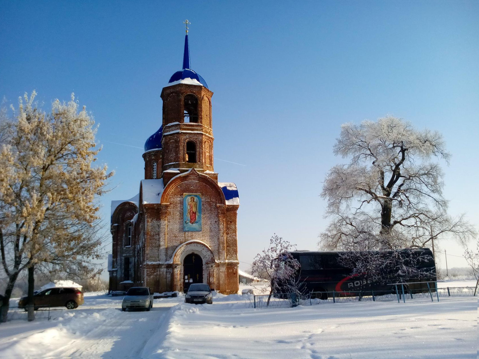
[[[35,95],[25,93],[13,117],[2,112],[0,123],[0,249],[8,278],[3,308],[23,269],[32,303],[35,266],[78,266],[98,256],[100,242],[91,229],[99,219],[96,199],[112,175],[106,166],[93,167],[100,151],[96,128],[73,94],[68,103],[55,100],[49,113],[36,106]],[[2,314],[5,320],[6,310]]]

